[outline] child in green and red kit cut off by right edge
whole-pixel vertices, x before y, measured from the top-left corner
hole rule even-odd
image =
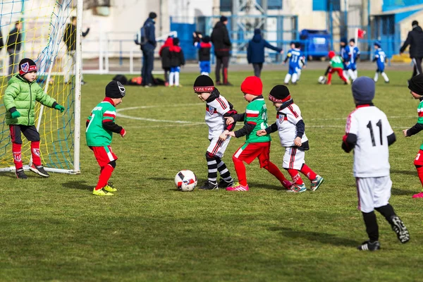
[[[412,97],[414,97],[414,99],[419,99],[420,102],[419,106],[417,106],[417,115],[419,116],[417,118],[417,123],[412,128],[403,130],[405,137],[410,137],[423,130],[423,74],[420,73],[409,80],[408,88],[410,89]],[[414,164],[417,169],[417,175],[419,176],[420,182],[423,186],[423,144],[420,146]],[[423,198],[423,190],[412,197]]]

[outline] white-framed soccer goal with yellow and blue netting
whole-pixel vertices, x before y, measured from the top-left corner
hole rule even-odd
[[[39,103],[35,107],[42,164],[46,171],[79,173],[82,0],[8,0],[0,6],[0,171],[15,170],[3,94],[19,61],[30,58],[37,63],[37,82],[44,92],[66,108],[61,114]],[[63,37],[73,16],[76,49],[71,54]],[[22,139],[24,169],[29,169],[30,142]]]

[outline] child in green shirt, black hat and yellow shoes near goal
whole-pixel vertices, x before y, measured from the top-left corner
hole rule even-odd
[[[116,154],[111,150],[110,144],[113,133],[118,133],[125,137],[126,131],[114,121],[116,118],[116,106],[121,104],[125,97],[125,87],[116,80],[112,80],[106,85],[106,97],[102,102],[92,109],[87,118],[87,145],[94,152],[94,157],[100,166],[100,176],[97,186],[92,190],[92,194],[97,196],[113,196],[111,192],[117,189],[109,183],[111,173],[116,167]]]

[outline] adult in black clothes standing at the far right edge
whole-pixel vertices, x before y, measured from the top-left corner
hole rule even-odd
[[[412,30],[408,32],[407,39],[400,49],[400,54],[403,54],[408,45],[410,45],[410,58],[414,64],[412,71],[412,76],[414,77],[422,73],[423,58],[423,30],[422,27],[419,27],[417,20],[412,21]]]

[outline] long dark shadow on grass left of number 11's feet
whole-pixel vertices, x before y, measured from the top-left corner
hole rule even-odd
[[[335,246],[345,246],[345,247],[356,247],[360,245],[361,242],[356,240],[351,240],[347,238],[337,237],[336,235],[329,233],[319,233],[313,231],[298,231],[291,228],[284,227],[271,227],[270,231],[279,231],[285,237],[289,238],[304,238],[312,242],[320,242],[323,244],[335,245]]]

